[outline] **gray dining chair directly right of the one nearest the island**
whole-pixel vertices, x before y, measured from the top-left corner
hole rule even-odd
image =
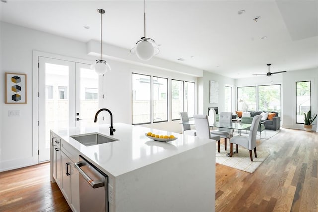
[[[232,112],[220,112],[219,116],[219,125],[232,125]],[[227,150],[227,139],[233,137],[233,129],[228,128],[218,128],[216,130],[212,130],[211,132],[215,136],[220,136],[224,138],[224,149]]]

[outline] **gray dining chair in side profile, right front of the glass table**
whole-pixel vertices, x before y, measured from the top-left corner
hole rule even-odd
[[[261,118],[262,118],[261,115],[254,116],[252,124],[250,126],[250,131],[249,131],[248,137],[234,136],[233,138],[230,139],[230,157],[232,157],[233,144],[235,143],[237,153],[239,152],[239,145],[241,145],[249,150],[250,161],[253,161],[253,154],[252,154],[253,149],[254,149],[255,157],[257,158],[256,136],[257,136],[258,125],[259,125]]]

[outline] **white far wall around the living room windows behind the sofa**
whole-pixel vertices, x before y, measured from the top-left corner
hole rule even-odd
[[[317,113],[317,68],[297,70],[276,74],[272,76],[256,76],[251,78],[236,79],[237,87],[255,85],[282,85],[282,116],[281,127],[292,129],[303,129],[302,124],[296,124],[296,81],[312,81],[312,111]],[[237,102],[237,100],[236,100]],[[237,105],[236,105],[237,108]],[[316,129],[314,125],[313,130]]]

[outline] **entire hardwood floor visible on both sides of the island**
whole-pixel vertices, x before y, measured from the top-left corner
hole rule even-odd
[[[318,212],[318,134],[281,129],[269,140],[258,140],[257,151],[270,156],[253,174],[216,164],[215,210]],[[71,211],[50,182],[50,163],[0,175],[1,212]]]

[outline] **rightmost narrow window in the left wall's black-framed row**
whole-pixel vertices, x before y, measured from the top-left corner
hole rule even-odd
[[[193,117],[195,113],[195,83],[193,82],[184,83],[184,111],[188,112],[189,117]]]

